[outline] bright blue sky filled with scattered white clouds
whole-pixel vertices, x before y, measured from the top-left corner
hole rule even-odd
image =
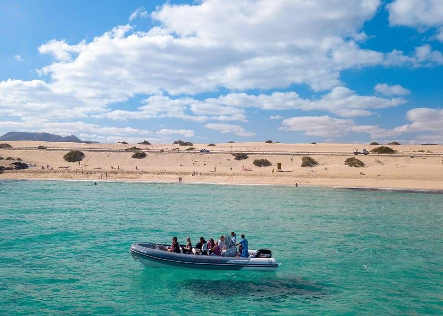
[[[0,23],[0,133],[443,143],[440,0],[5,0]]]

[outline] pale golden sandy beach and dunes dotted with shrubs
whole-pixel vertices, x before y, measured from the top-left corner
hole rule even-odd
[[[49,143],[37,141],[11,141],[13,147],[65,147],[83,148],[85,158],[80,162],[66,162],[63,155],[68,150],[19,150],[0,149],[0,157],[20,158],[27,164],[36,165],[25,170],[6,170],[0,179],[81,179],[81,180],[125,180],[177,182],[183,183],[222,183],[222,184],[267,184],[267,185],[315,185],[356,188],[392,188],[417,190],[443,190],[443,146],[441,145],[390,145],[402,157],[363,156],[358,159],[365,167],[355,168],[344,164],[347,155],[310,156],[318,161],[315,167],[301,167],[303,156],[250,154],[246,160],[237,161],[229,153],[170,153],[149,152],[148,149],[176,149],[181,151],[188,146],[176,144],[136,145],[136,144],[82,144]],[[355,148],[368,151],[377,147],[358,144],[266,144],[265,142],[224,143],[208,147],[207,144],[194,144],[197,150],[225,151],[290,151],[351,153]],[[146,151],[143,159],[131,158],[132,152],[97,152],[98,149],[126,149],[136,146]],[[420,151],[420,152],[419,152]],[[424,153],[423,153],[423,152]],[[442,156],[418,156],[418,154],[441,154]],[[254,159],[268,159],[269,167],[256,167]],[[291,158],[293,158],[291,170]],[[8,166],[12,160],[0,160],[1,166]],[[277,162],[282,163],[282,171],[276,172]],[[47,166],[49,165],[49,169]],[[44,169],[42,169],[42,166]],[[64,167],[64,168],[61,168]],[[274,170],[274,172],[272,172]],[[194,175],[197,172],[198,175]],[[363,173],[363,174],[360,174]]]

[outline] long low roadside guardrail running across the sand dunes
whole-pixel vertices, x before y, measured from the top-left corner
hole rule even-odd
[[[139,147],[141,148],[141,147]],[[22,147],[15,146],[13,148],[2,148],[9,150],[60,150],[60,151],[70,151],[70,150],[80,150],[84,152],[114,152],[114,153],[124,153],[125,149],[119,148],[87,148],[87,147],[46,147],[46,149],[39,149],[37,147]],[[154,153],[200,153],[199,150],[174,150],[174,149],[150,149],[150,148],[141,148],[144,152],[154,152]],[[210,150],[209,154],[249,154],[249,155],[288,155],[288,156],[310,156],[310,155],[326,155],[326,156],[354,156],[354,152],[293,152],[293,151],[249,151],[249,150]],[[362,154],[359,154],[360,156]],[[411,153],[411,152],[403,152],[397,154],[378,154],[378,153],[369,153],[368,156],[393,156],[393,157],[406,157],[406,156],[414,156],[414,157],[442,157],[443,154],[438,153]]]

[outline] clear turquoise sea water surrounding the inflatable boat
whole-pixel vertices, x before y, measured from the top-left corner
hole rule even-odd
[[[442,194],[0,181],[0,315],[442,315],[442,229]],[[278,271],[129,254],[231,230]]]

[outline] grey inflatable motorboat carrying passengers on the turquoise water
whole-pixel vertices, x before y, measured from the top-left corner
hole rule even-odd
[[[168,245],[133,243],[131,255],[147,267],[170,267],[205,270],[275,271],[277,261],[269,250],[249,250],[249,258],[235,257],[235,248],[222,251],[222,256],[195,255],[167,251]]]

